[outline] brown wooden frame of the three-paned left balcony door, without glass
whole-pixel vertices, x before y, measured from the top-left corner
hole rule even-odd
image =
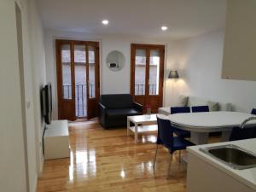
[[[74,104],[74,109],[75,108],[75,67],[74,67],[74,44],[84,44],[85,46],[85,51],[86,51],[86,62],[88,61],[89,64],[89,54],[88,54],[88,46],[93,46],[96,48],[96,68],[95,68],[95,94],[96,98],[90,98],[90,100],[96,100],[95,102],[98,101],[99,99],[99,94],[100,94],[100,58],[99,58],[99,42],[93,42],[93,41],[81,41],[81,40],[67,40],[67,39],[55,39],[55,62],[56,62],[56,80],[57,80],[57,98],[58,98],[58,119],[61,119],[61,102],[63,100],[62,94],[63,94],[63,88],[62,88],[62,66],[61,66],[61,44],[70,44],[70,52],[71,52],[71,81],[72,81],[72,98],[73,98],[73,104]],[[85,67],[86,70],[86,97],[87,97],[87,116],[88,116],[88,102],[89,102],[89,87],[88,87],[88,78],[89,78],[89,65]],[[87,118],[87,117],[83,117]],[[79,119],[79,117],[76,116],[74,113],[73,120]]]

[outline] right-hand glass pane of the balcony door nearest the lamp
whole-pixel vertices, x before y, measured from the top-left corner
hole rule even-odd
[[[160,51],[150,50],[148,95],[159,95]]]

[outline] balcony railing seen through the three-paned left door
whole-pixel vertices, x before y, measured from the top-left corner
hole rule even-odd
[[[86,84],[75,85],[75,108],[77,117],[87,116]],[[63,84],[65,99],[72,99],[71,84]],[[95,97],[95,84],[89,84],[89,98]]]

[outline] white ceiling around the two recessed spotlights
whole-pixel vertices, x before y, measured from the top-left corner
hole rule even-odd
[[[225,5],[225,0],[38,0],[45,28],[150,38],[189,38],[218,30],[224,27]],[[166,32],[160,30],[163,25]]]

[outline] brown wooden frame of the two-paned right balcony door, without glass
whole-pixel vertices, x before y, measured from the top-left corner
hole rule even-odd
[[[165,45],[160,44],[131,44],[131,85],[130,93],[133,96],[135,95],[135,56],[136,49],[145,49],[146,50],[146,79],[145,79],[145,96],[154,97],[154,95],[148,95],[148,79],[149,79],[149,65],[150,65],[150,49],[159,49],[160,50],[160,81],[159,81],[159,96],[160,97],[160,106],[163,104],[163,92],[164,92],[164,70],[165,70]],[[148,66],[148,67],[147,67]],[[138,95],[137,97],[140,97]],[[142,97],[142,96],[141,96]]]

